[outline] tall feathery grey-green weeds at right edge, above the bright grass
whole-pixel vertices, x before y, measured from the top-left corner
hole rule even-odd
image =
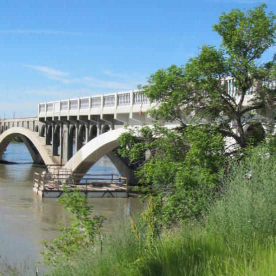
[[[209,227],[225,238],[276,236],[276,147],[248,150],[225,179],[223,196],[210,209]]]

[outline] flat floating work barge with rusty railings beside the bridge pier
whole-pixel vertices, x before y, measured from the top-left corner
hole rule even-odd
[[[72,174],[67,170],[34,174],[33,191],[41,197],[64,195],[63,186],[72,192],[77,189],[88,197],[128,197],[127,178],[115,174]]]

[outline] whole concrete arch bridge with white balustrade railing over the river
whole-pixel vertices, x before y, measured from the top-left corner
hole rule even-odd
[[[226,89],[235,96],[233,79]],[[238,100],[238,97],[237,97]],[[247,106],[245,100],[245,106]],[[8,144],[20,136],[34,163],[64,164],[74,173],[85,174],[107,155],[123,177],[135,184],[134,168],[114,153],[118,137],[127,124],[151,124],[146,111],[152,106],[139,91],[116,92],[38,104],[36,117],[0,120],[0,159]],[[275,118],[268,112],[264,121]],[[168,127],[176,126],[168,124]],[[235,125],[232,126],[235,129]],[[266,124],[261,127],[269,131]],[[250,130],[250,124],[244,126]],[[274,130],[275,132],[275,127]]]

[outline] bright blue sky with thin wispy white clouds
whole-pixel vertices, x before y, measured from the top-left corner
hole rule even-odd
[[[222,11],[260,2],[0,1],[0,117],[35,116],[39,102],[136,89],[203,43],[219,45],[211,26]],[[266,2],[276,12],[276,0]]]

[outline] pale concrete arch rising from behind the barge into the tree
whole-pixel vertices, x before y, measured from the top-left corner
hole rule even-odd
[[[105,132],[84,145],[64,166],[64,169],[85,174],[104,155],[119,146],[118,137],[125,128]]]

